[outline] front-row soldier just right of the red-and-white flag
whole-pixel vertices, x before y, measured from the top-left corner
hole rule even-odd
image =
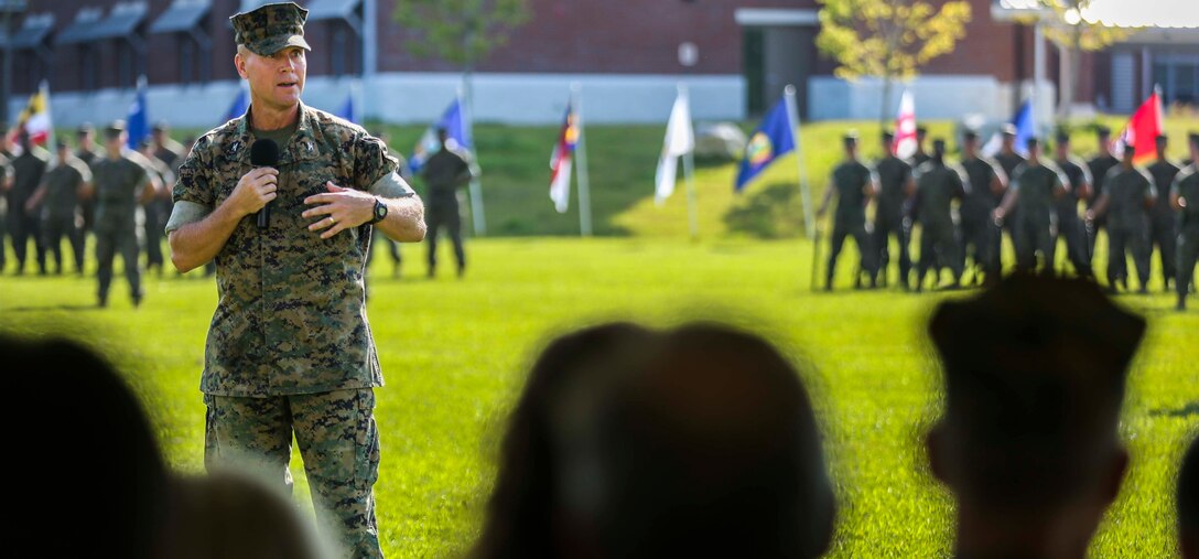
[[[924,276],[934,271],[940,284],[941,269],[953,272],[953,287],[962,281],[957,232],[953,227],[953,200],[969,190],[965,172],[945,163],[945,140],[933,140],[933,155],[916,168],[915,214],[920,223],[920,262],[916,264],[916,293],[924,289]]]

